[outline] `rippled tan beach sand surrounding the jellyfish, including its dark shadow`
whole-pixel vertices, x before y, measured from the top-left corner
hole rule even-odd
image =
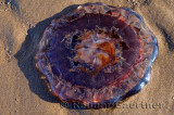
[[[55,101],[39,78],[34,54],[49,23],[85,2],[128,7],[142,15],[159,43],[151,80],[115,108],[72,110]],[[174,114],[173,0],[1,0],[0,115]]]

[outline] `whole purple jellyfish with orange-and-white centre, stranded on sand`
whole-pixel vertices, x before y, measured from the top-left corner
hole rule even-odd
[[[100,108],[141,90],[157,54],[157,40],[139,14],[86,3],[46,28],[36,65],[55,97]]]

